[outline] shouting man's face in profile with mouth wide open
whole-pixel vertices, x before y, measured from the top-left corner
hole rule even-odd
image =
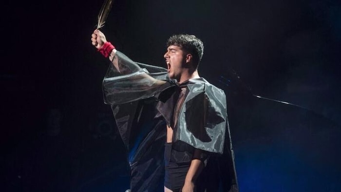
[[[183,50],[177,45],[170,45],[163,57],[166,59],[169,77],[179,81],[186,62]]]

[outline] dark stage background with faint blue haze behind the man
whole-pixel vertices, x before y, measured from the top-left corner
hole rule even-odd
[[[102,99],[109,63],[90,40],[101,4],[2,2],[4,191],[129,188]],[[171,35],[203,40],[199,74],[227,93],[241,191],[341,191],[340,1],[116,0],[102,31],[158,66]]]

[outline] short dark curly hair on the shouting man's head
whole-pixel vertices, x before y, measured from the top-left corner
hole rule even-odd
[[[199,38],[188,34],[173,35],[167,41],[167,47],[170,45],[177,45],[192,54],[193,63],[196,68],[198,67],[204,54],[204,44]]]

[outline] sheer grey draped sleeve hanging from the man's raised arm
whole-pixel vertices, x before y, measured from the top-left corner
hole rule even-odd
[[[117,105],[150,98],[168,81],[167,69],[134,62],[117,51],[103,79],[104,102]]]

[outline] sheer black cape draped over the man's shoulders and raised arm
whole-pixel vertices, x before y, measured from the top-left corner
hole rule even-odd
[[[118,51],[113,63],[103,79],[103,95],[128,151],[131,190],[163,191],[165,127],[171,124],[179,88],[164,68],[134,62]],[[220,185],[237,192],[226,96],[203,78],[190,79],[186,87],[173,143],[211,154],[198,182],[205,184],[202,188],[213,192]]]

